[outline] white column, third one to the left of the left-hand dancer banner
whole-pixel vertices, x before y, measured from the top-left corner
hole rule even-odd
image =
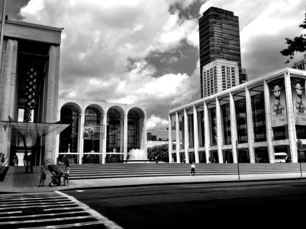
[[[233,94],[230,92],[230,113],[231,113],[231,138],[232,138],[232,153],[234,163],[238,162],[238,153],[237,153],[237,119],[236,119],[236,108]]]

